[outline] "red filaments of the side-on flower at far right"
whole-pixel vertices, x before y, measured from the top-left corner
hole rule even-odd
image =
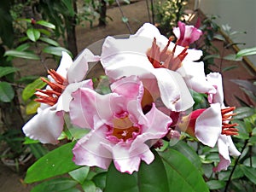
[[[228,124],[226,121],[230,121],[230,118],[236,113],[232,113],[236,108],[230,107],[230,108],[223,108],[221,109],[221,115],[222,115],[222,131],[221,134],[226,136],[234,136],[238,135],[238,130],[235,128],[238,124]]]

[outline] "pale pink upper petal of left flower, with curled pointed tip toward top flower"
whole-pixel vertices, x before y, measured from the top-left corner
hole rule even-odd
[[[69,84],[82,81],[88,71],[88,62],[99,61],[100,57],[93,55],[89,49],[84,51],[73,61],[73,65],[67,72],[67,81]]]

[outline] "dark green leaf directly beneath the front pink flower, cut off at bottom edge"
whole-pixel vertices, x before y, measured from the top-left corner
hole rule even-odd
[[[117,171],[112,163],[108,168],[104,192],[167,192],[168,188],[165,167],[159,154],[154,151],[154,161],[149,165],[142,162],[139,171],[131,175]]]

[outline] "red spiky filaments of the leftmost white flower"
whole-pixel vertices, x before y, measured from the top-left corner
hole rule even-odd
[[[56,73],[53,69],[50,69],[48,73],[52,77],[52,79],[55,80],[55,82],[50,82],[47,79],[41,78],[46,84],[49,85],[51,90],[37,89],[39,93],[35,93],[35,95],[38,96],[38,98],[35,99],[35,101],[53,106],[56,102],[58,102],[59,96],[61,96],[63,90],[65,90],[65,84],[67,82],[67,79],[63,78],[59,73]]]

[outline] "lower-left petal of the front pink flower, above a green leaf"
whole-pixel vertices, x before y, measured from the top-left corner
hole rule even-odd
[[[113,157],[102,145],[102,143],[109,143],[105,138],[106,131],[106,127],[92,130],[79,140],[73,148],[73,161],[75,164],[80,166],[98,166],[102,169],[108,169]]]

